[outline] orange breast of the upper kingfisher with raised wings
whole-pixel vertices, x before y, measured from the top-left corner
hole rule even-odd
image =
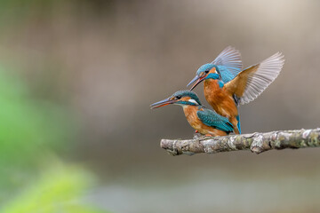
[[[218,114],[228,117],[238,114],[235,100],[224,88],[220,88],[218,80],[204,81],[204,97]]]

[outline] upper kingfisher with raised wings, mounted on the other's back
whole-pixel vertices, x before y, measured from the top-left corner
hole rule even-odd
[[[228,117],[236,134],[241,134],[240,117],[237,106],[256,99],[284,66],[284,55],[277,52],[259,64],[241,71],[239,51],[228,47],[210,64],[205,64],[196,71],[196,77],[188,83],[204,81],[204,97],[220,115]]]

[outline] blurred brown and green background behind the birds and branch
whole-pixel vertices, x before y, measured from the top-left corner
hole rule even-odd
[[[172,157],[160,139],[194,130],[149,109],[232,45],[286,59],[243,133],[319,127],[319,19],[316,0],[2,0],[1,212],[319,212],[318,148]]]

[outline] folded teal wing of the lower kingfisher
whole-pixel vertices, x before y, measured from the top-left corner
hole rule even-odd
[[[210,109],[204,108],[204,111],[197,111],[196,115],[207,126],[212,126],[218,130],[233,131],[233,126],[228,122],[228,118],[216,114]]]

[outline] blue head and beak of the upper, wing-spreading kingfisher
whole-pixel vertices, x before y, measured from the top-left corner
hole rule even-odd
[[[214,64],[204,64],[203,66],[199,67],[198,70],[196,71],[196,77],[192,79],[187,86],[191,85],[192,83],[195,83],[190,89],[190,91],[192,91],[197,84],[204,81],[204,79],[209,79],[209,78],[212,78],[212,79],[221,78],[219,69]]]

